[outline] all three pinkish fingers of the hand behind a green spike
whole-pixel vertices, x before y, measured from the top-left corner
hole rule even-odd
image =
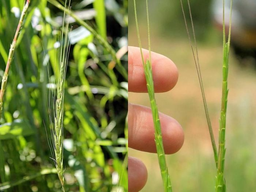
[[[149,56],[143,49],[144,59]],[[172,60],[151,51],[155,93],[171,90],[177,83],[178,70]],[[128,91],[147,93],[146,79],[140,50],[128,47]],[[181,125],[172,117],[159,113],[162,126],[163,145],[166,154],[177,152],[184,142]],[[156,153],[154,125],[151,109],[141,105],[128,104],[128,145],[144,152]],[[146,166],[138,158],[128,158],[128,191],[140,191],[147,181]]]

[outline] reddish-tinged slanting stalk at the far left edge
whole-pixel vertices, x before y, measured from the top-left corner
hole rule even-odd
[[[16,42],[17,42],[17,39],[18,39],[18,36],[19,36],[20,29],[21,29],[22,24],[23,24],[27,9],[29,8],[30,0],[26,0],[25,2],[26,3],[24,4],[24,7],[22,9],[20,19],[19,19],[19,23],[18,23],[16,32],[15,32],[15,35],[14,35],[14,39],[12,40],[12,44],[11,44],[11,47],[10,47],[10,51],[9,51],[9,55],[8,55],[8,59],[7,59],[3,79],[2,79],[1,90],[0,90],[0,118],[1,118],[2,111],[3,111],[4,94],[5,94],[5,89],[6,89],[6,85],[7,85],[7,79],[8,79],[8,75],[9,75],[11,62],[12,62],[13,55],[14,55],[14,50],[15,50],[15,47],[16,47]]]

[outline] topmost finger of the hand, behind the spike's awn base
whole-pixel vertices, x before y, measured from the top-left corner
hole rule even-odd
[[[142,49],[144,60],[149,58],[149,51]],[[178,81],[178,69],[172,60],[151,51],[151,64],[156,93],[171,90]],[[128,47],[128,82],[129,91],[146,93],[146,79],[139,47]]]

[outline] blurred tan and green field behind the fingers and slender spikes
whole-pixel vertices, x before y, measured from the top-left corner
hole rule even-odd
[[[147,48],[146,3],[137,1],[137,5],[142,44],[143,48]],[[210,6],[211,1],[191,1],[204,90],[215,140],[218,141],[222,34],[213,24]],[[188,16],[187,5],[185,7]],[[133,1],[129,1],[128,8],[128,44],[138,46]],[[214,191],[214,157],[180,1],[149,1],[149,12],[152,51],[172,59],[179,71],[178,83],[174,89],[156,94],[159,111],[177,119],[185,132],[181,150],[167,156],[173,191]],[[227,192],[255,191],[256,188],[255,81],[253,62],[246,61],[246,65],[240,63],[231,50],[225,161]],[[150,106],[147,94],[129,93],[128,97],[129,102]],[[163,191],[157,155],[130,148],[128,153],[129,156],[140,158],[147,166],[148,181],[142,192]]]

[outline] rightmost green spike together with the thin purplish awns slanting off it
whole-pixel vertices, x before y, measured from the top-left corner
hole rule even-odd
[[[229,34],[228,34],[228,40],[226,42],[226,36],[225,36],[225,9],[224,9],[225,0],[223,0],[223,64],[222,64],[222,98],[221,98],[221,117],[220,117],[220,125],[219,125],[219,146],[218,146],[218,154],[217,154],[217,148],[212,132],[212,126],[210,117],[208,114],[207,104],[206,104],[206,98],[204,96],[204,88],[203,88],[203,82],[202,82],[202,76],[200,72],[200,66],[199,66],[199,58],[198,58],[198,51],[197,51],[197,45],[196,45],[196,38],[195,38],[195,30],[193,26],[193,19],[192,19],[192,13],[191,8],[188,0],[188,7],[189,7],[189,15],[191,19],[191,25],[192,25],[192,32],[193,32],[193,39],[194,39],[194,45],[196,51],[193,49],[192,41],[189,35],[189,30],[187,26],[187,21],[184,13],[184,8],[182,5],[181,0],[181,8],[185,20],[185,26],[189,38],[189,43],[192,48],[193,57],[196,65],[197,75],[200,82],[200,88],[202,92],[203,97],[203,103],[204,103],[204,110],[206,113],[206,119],[208,123],[208,129],[211,137],[211,143],[212,143],[212,149],[214,152],[214,160],[217,167],[217,176],[216,176],[216,184],[215,184],[215,191],[216,192],[225,192],[226,191],[226,184],[224,179],[224,165],[225,165],[225,133],[226,133],[226,110],[227,110],[227,76],[228,76],[228,67],[229,67],[229,47],[230,47],[230,34],[231,34],[231,10],[232,10],[232,0],[230,1],[230,20],[229,20]]]

